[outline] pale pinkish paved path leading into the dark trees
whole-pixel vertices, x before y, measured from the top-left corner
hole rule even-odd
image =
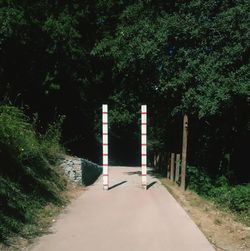
[[[214,251],[157,179],[148,177],[151,186],[141,189],[139,171],[110,168],[111,189],[103,191],[99,179],[31,250]]]

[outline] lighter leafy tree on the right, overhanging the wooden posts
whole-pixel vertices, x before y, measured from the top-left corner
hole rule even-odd
[[[180,152],[188,113],[191,164],[249,181],[249,1],[119,3],[92,50],[112,62],[115,109],[148,103],[149,136],[165,152]]]

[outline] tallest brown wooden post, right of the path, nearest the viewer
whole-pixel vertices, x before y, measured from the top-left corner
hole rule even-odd
[[[183,118],[183,140],[181,156],[181,188],[186,189],[186,169],[187,169],[187,140],[188,140],[188,116]]]

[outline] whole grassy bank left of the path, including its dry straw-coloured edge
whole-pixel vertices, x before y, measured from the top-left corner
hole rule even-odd
[[[0,105],[0,243],[5,247],[46,233],[69,195],[79,190],[72,190],[59,167],[60,124],[41,135],[22,110]],[[84,185],[100,174],[90,161],[82,160],[82,168]]]

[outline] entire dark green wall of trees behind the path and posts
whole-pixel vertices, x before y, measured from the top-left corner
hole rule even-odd
[[[221,176],[248,183],[249,13],[248,0],[1,0],[1,100],[38,113],[41,133],[65,115],[65,146],[91,160],[107,102],[119,164],[138,164],[140,104],[151,157],[181,151],[187,113],[188,163],[206,174],[190,177],[193,185],[213,189]]]

